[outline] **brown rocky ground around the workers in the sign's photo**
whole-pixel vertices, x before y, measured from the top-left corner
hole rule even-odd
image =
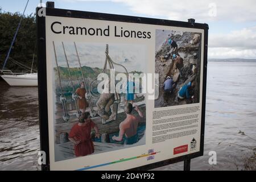
[[[173,58],[173,51],[168,39],[174,40],[177,43],[176,59]],[[166,40],[155,53],[155,73],[159,74],[159,97],[155,100],[155,107],[199,102],[200,62],[200,33],[172,31],[170,35],[166,36]],[[163,84],[168,76],[175,82],[174,89],[170,94],[164,94]],[[193,83],[193,98],[177,99],[180,88],[189,82]]]

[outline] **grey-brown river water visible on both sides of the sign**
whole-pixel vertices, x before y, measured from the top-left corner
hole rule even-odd
[[[0,81],[0,95],[0,170],[40,170],[38,89],[11,88]],[[204,156],[192,159],[191,169],[247,169],[251,150],[241,145],[256,146],[252,138],[256,139],[256,63],[209,62]],[[216,152],[216,165],[209,164],[209,151]],[[176,163],[156,170],[182,169],[183,163]]]

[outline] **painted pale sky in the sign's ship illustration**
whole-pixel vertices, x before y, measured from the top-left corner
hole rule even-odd
[[[104,67],[106,44],[76,43],[76,46],[77,51],[79,52],[81,65],[101,69]],[[55,47],[59,66],[67,67],[63,45],[60,42],[55,42]],[[69,67],[79,67],[74,44],[64,42],[64,48]],[[112,43],[109,45],[109,56],[115,63],[125,66],[128,72],[139,71],[146,73],[146,47],[141,44],[133,44],[133,46],[131,46],[130,44]],[[55,58],[53,57],[52,59],[54,60]],[[137,60],[140,60],[139,63]],[[109,65],[107,67],[109,69]],[[125,70],[118,65],[114,65],[114,68],[117,72],[125,72]]]

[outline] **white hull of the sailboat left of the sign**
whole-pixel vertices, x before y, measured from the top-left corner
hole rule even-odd
[[[10,86],[38,86],[38,74],[1,75]]]

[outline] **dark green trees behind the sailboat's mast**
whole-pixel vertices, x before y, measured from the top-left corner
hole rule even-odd
[[[2,68],[5,57],[10,48],[11,41],[14,38],[16,28],[18,27],[19,20],[22,14],[3,12],[0,9],[0,65]],[[21,26],[18,31],[13,48],[11,49],[10,57],[31,67],[32,59],[36,46],[36,19],[35,15],[30,14],[23,17]],[[34,59],[34,69],[36,67],[36,56]],[[11,69],[13,72],[22,72],[20,67],[13,64],[10,60],[7,61],[6,68]]]

